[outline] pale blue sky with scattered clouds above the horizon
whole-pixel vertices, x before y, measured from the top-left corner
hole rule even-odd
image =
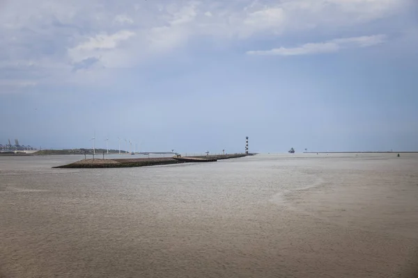
[[[418,151],[414,0],[0,0],[0,143]]]

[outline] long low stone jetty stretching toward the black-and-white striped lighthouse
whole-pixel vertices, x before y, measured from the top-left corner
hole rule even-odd
[[[173,156],[171,158],[115,158],[115,159],[83,159],[68,165],[54,168],[118,168],[143,167],[153,165],[169,165],[178,163],[215,162],[218,159],[230,159],[248,156],[249,154],[224,154],[217,156]]]

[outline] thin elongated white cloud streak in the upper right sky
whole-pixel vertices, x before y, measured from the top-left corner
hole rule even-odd
[[[356,47],[372,47],[381,44],[387,39],[386,35],[371,35],[355,38],[341,38],[329,40],[327,42],[315,42],[303,44],[300,47],[286,48],[280,47],[271,50],[247,51],[249,55],[278,55],[278,56],[297,56],[309,54],[323,54],[339,51],[340,49]]]

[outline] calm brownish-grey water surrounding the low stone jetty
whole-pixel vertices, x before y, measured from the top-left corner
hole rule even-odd
[[[0,277],[418,277],[418,155],[0,157]]]

